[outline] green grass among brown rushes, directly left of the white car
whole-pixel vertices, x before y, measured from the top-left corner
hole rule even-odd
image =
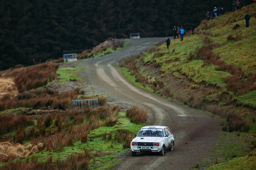
[[[104,166],[112,167],[113,164],[119,163],[120,161],[114,160],[117,158],[117,153],[122,153],[124,151],[130,150],[130,148],[123,148],[122,143],[117,143],[114,141],[114,137],[117,130],[128,130],[137,134],[141,127],[145,125],[136,125],[130,122],[130,120],[126,117],[126,113],[120,112],[119,114],[119,122],[112,127],[100,127],[98,129],[92,130],[88,135],[87,143],[81,143],[81,141],[77,141],[73,143],[72,146],[64,147],[62,151],[41,151],[38,154],[33,154],[28,157],[20,158],[21,160],[26,160],[27,158],[37,157],[39,162],[45,162],[48,160],[50,156],[53,157],[53,161],[56,160],[65,160],[71,154],[78,154],[84,152],[86,149],[91,152],[91,154],[95,153],[96,155],[101,155],[103,153],[104,156],[96,156],[91,160],[92,165],[96,163],[96,161],[100,161]],[[102,140],[102,136],[104,133],[112,132],[112,140]],[[108,153],[108,154],[104,154]],[[16,160],[14,160],[16,161]],[[11,161],[9,161],[11,162]],[[0,166],[5,164],[0,164]]]

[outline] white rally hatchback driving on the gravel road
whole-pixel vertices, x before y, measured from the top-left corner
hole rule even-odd
[[[158,152],[164,155],[167,149],[173,150],[174,138],[167,126],[144,126],[131,141],[132,156],[137,152]]]

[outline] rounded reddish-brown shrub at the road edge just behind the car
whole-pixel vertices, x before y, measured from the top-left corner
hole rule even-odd
[[[130,110],[128,110],[126,116],[135,124],[146,123],[149,117],[146,111],[137,106],[133,106]]]

